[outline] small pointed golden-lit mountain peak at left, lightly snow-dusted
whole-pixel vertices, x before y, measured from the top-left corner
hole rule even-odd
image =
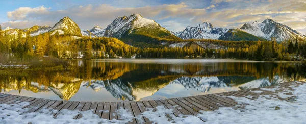
[[[52,32],[51,35],[55,34],[56,31],[59,32],[59,34],[82,36],[78,24],[72,21],[69,17],[64,17],[49,30],[49,32]]]

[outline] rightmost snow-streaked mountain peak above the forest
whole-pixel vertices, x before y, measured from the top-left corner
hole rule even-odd
[[[263,22],[252,22],[244,24],[240,29],[252,35],[262,37],[270,40],[271,37],[275,37],[277,42],[281,42],[287,39],[295,39],[296,36],[305,37],[296,30],[275,22],[272,19],[266,19]]]

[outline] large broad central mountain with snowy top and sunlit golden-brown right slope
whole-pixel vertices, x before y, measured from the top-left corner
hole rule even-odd
[[[154,37],[176,37],[170,31],[161,27],[154,20],[143,18],[139,14],[116,18],[105,29],[105,37],[129,37],[132,34]]]

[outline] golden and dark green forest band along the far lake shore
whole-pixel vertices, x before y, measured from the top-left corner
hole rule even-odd
[[[98,58],[235,58],[250,60],[287,60],[306,57],[305,39],[296,37],[277,43],[271,41],[222,41],[222,40],[166,40],[155,39],[147,44],[158,44],[149,48],[127,45],[116,38],[81,38],[71,35],[50,36],[44,33],[31,37],[30,32],[24,36],[21,29],[15,35],[8,35],[0,27],[0,58],[28,61],[33,57],[56,57],[64,59],[98,59]],[[145,40],[145,39],[144,39]],[[148,39],[147,39],[148,40]],[[170,48],[169,44],[178,42],[205,42],[222,46],[216,49],[196,49],[185,47]],[[131,41],[132,42],[132,41]],[[135,42],[134,42],[135,43]],[[163,45],[162,45],[163,44]],[[0,61],[1,63],[1,61]]]

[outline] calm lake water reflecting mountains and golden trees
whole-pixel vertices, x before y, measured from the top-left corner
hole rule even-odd
[[[139,101],[305,81],[301,62],[218,59],[71,61],[69,72],[0,75],[1,92],[54,100]]]

